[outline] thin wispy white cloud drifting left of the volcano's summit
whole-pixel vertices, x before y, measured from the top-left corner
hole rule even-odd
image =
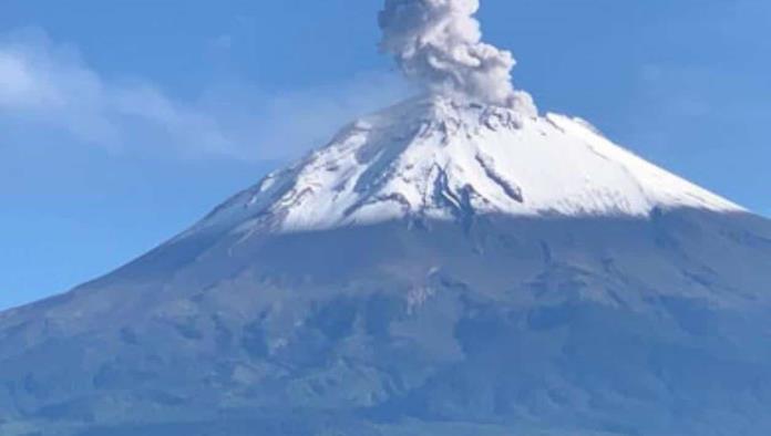
[[[281,159],[405,93],[398,77],[364,74],[290,94],[213,84],[182,101],[147,80],[106,77],[43,31],[0,35],[0,146],[38,146],[42,129],[115,153]]]

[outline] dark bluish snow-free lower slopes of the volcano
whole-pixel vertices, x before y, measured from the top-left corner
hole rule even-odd
[[[769,283],[749,214],[196,232],[0,314],[0,429],[758,434]]]

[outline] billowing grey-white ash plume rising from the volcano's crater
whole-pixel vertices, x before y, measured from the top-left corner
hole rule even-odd
[[[386,0],[381,50],[433,93],[535,112],[512,85],[512,53],[482,42],[479,9],[479,0]]]

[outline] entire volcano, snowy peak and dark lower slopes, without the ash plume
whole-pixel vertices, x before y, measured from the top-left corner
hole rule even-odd
[[[586,123],[358,122],[0,314],[3,435],[757,435],[771,224]]]

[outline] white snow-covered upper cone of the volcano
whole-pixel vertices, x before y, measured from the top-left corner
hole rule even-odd
[[[268,175],[197,228],[296,231],[403,218],[648,216],[656,208],[739,211],[603,137],[532,106],[408,101],[343,128]]]

